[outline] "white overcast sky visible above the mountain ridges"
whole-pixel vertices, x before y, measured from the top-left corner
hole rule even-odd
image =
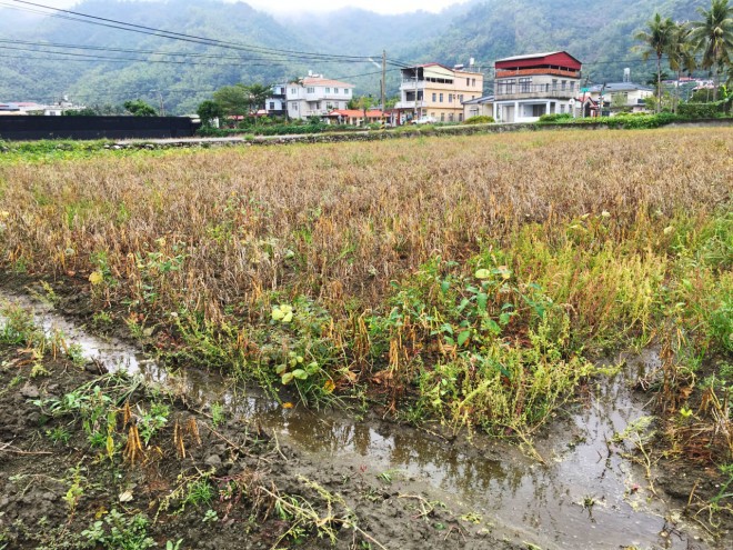
[[[54,8],[70,8],[79,0],[29,0]],[[155,0],[149,0],[155,1]],[[237,1],[237,0],[225,0]],[[376,11],[379,13],[404,13],[408,11],[425,10],[440,11],[454,3],[466,0],[249,0],[247,3],[270,13],[298,13],[302,11],[334,11],[345,6]],[[13,3],[13,2],[9,2]]]

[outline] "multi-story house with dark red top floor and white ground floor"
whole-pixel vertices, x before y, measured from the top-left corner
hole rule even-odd
[[[533,122],[543,114],[572,112],[582,63],[565,51],[531,53],[494,62],[494,119]]]

